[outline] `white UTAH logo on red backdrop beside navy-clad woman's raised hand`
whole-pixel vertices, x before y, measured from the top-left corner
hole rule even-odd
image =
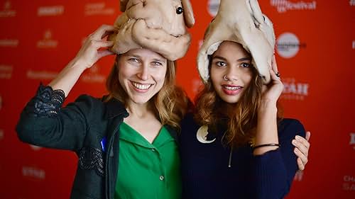
[[[310,84],[297,82],[294,78],[285,78],[283,85],[283,99],[303,101],[308,96]]]

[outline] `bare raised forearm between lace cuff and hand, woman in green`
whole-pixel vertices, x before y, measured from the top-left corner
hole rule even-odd
[[[48,85],[53,90],[61,89],[64,91],[66,97],[85,69],[86,67],[83,64],[80,64],[77,59],[73,59]]]

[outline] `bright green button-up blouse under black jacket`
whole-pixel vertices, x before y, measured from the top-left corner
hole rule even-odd
[[[153,143],[126,123],[119,129],[115,199],[180,199],[178,144],[165,127]]]

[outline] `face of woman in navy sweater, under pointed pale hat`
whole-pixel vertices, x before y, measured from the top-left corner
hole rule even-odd
[[[218,96],[237,103],[253,77],[251,56],[237,42],[224,41],[212,55],[210,76]]]

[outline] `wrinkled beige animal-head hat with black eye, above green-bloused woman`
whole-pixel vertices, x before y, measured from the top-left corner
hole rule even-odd
[[[118,32],[109,37],[112,52],[144,47],[171,61],[185,55],[191,40],[185,26],[195,23],[189,0],[121,0],[120,9]]]

